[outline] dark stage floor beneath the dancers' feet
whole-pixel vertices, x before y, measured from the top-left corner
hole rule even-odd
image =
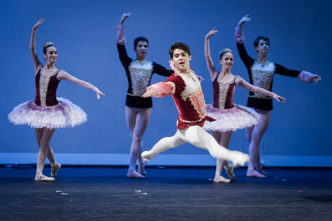
[[[35,168],[2,166],[0,220],[332,220],[331,169],[267,168],[258,179],[240,168],[231,184],[209,180],[213,168],[146,168],[145,180],[126,170],[67,167],[35,182]]]

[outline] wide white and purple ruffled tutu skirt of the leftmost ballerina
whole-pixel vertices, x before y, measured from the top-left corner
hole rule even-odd
[[[87,121],[87,114],[70,100],[56,97],[54,106],[38,106],[34,100],[14,107],[8,120],[14,125],[27,124],[34,128],[74,127]]]

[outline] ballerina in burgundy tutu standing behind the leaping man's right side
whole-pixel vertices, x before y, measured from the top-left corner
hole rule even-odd
[[[215,30],[215,27],[209,31],[205,36],[204,44],[207,68],[210,72],[213,85],[213,104],[207,104],[206,111],[207,115],[216,119],[216,121],[205,122],[204,130],[211,131],[211,135],[218,141],[218,143],[228,148],[233,131],[252,127],[253,125],[258,124],[260,119],[260,114],[258,114],[253,108],[233,104],[235,86],[239,85],[255,93],[271,96],[278,101],[282,100],[285,102],[286,99],[271,91],[249,84],[238,75],[234,76],[230,72],[230,69],[233,66],[233,53],[229,48],[220,51],[220,64],[222,69],[221,72],[218,72],[213,65],[209,45],[209,38],[216,32],[218,31]],[[233,164],[228,164],[228,161],[223,159],[217,159],[214,182],[231,182],[230,179],[221,176],[223,168],[232,180],[236,179],[233,173]]]

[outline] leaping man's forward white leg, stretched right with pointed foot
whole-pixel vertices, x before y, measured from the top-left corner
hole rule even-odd
[[[178,130],[180,138],[202,149],[207,149],[212,157],[230,160],[234,166],[244,165],[249,161],[248,154],[236,150],[228,150],[221,146],[209,133],[200,126],[190,126]]]

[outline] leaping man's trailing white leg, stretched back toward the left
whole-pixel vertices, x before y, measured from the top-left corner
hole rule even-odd
[[[166,137],[159,140],[149,151],[144,151],[141,156],[145,162],[154,158],[158,153],[164,152],[170,148],[184,144],[185,141],[179,135],[179,130],[173,137]]]

